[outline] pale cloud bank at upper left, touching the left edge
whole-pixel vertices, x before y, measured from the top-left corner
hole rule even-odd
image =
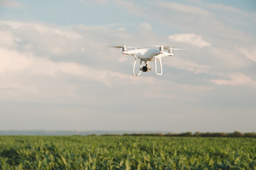
[[[38,23],[13,21],[0,21],[0,26],[2,47],[59,56],[81,51],[76,43],[83,36],[72,30],[65,31]]]

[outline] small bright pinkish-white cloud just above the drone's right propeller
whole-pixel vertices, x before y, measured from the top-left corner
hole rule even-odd
[[[171,41],[189,43],[199,48],[211,45],[209,42],[202,40],[202,36],[194,33],[174,34],[168,36],[168,38]]]

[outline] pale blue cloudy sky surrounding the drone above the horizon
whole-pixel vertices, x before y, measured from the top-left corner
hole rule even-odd
[[[0,0],[0,130],[256,132],[255,30],[254,0]],[[109,47],[160,44],[162,76]]]

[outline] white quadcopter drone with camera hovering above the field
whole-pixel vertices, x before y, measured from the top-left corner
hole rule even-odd
[[[154,61],[155,63],[155,75],[162,75],[163,68],[162,68],[162,57],[167,56],[173,56],[173,50],[183,50],[183,49],[175,49],[172,46],[159,46],[159,50],[155,49],[158,46],[153,46],[154,48],[136,48],[136,47],[130,47],[130,46],[112,46],[114,48],[122,48],[122,54],[126,55],[132,55],[134,57],[133,62],[133,75],[140,75],[141,71],[143,72],[150,72],[151,67],[149,65],[149,62]],[[127,48],[133,48],[133,50],[127,51]],[[164,51],[164,49],[168,49],[168,52]],[[140,59],[139,64],[139,73],[135,73],[135,64],[136,59]],[[157,73],[157,61],[159,61],[160,64],[160,73]],[[142,67],[142,61],[145,62],[145,66]]]

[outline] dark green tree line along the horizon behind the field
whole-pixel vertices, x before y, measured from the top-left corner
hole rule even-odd
[[[95,134],[92,134],[90,136],[97,136]],[[255,132],[250,133],[241,133],[238,131],[235,131],[233,133],[224,133],[224,132],[195,132],[194,134],[192,132],[183,132],[183,133],[132,133],[128,134],[125,133],[124,135],[114,135],[114,134],[105,134],[101,136],[155,136],[155,137],[251,137],[256,138]]]

